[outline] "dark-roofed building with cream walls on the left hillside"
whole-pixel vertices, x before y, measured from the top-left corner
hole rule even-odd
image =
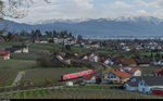
[[[12,46],[12,48],[5,50],[14,53],[28,53],[28,46]]]

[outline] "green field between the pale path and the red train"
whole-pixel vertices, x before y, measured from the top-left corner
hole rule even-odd
[[[89,70],[87,67],[71,67],[71,68],[35,68],[28,70],[25,74],[25,80],[35,84],[43,84],[46,79],[52,83],[61,80],[61,75]]]

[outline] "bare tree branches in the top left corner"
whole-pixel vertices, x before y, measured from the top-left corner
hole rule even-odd
[[[43,0],[50,3],[49,0]],[[34,0],[0,0],[0,20],[4,16],[13,18],[25,17],[29,12],[29,5]]]

